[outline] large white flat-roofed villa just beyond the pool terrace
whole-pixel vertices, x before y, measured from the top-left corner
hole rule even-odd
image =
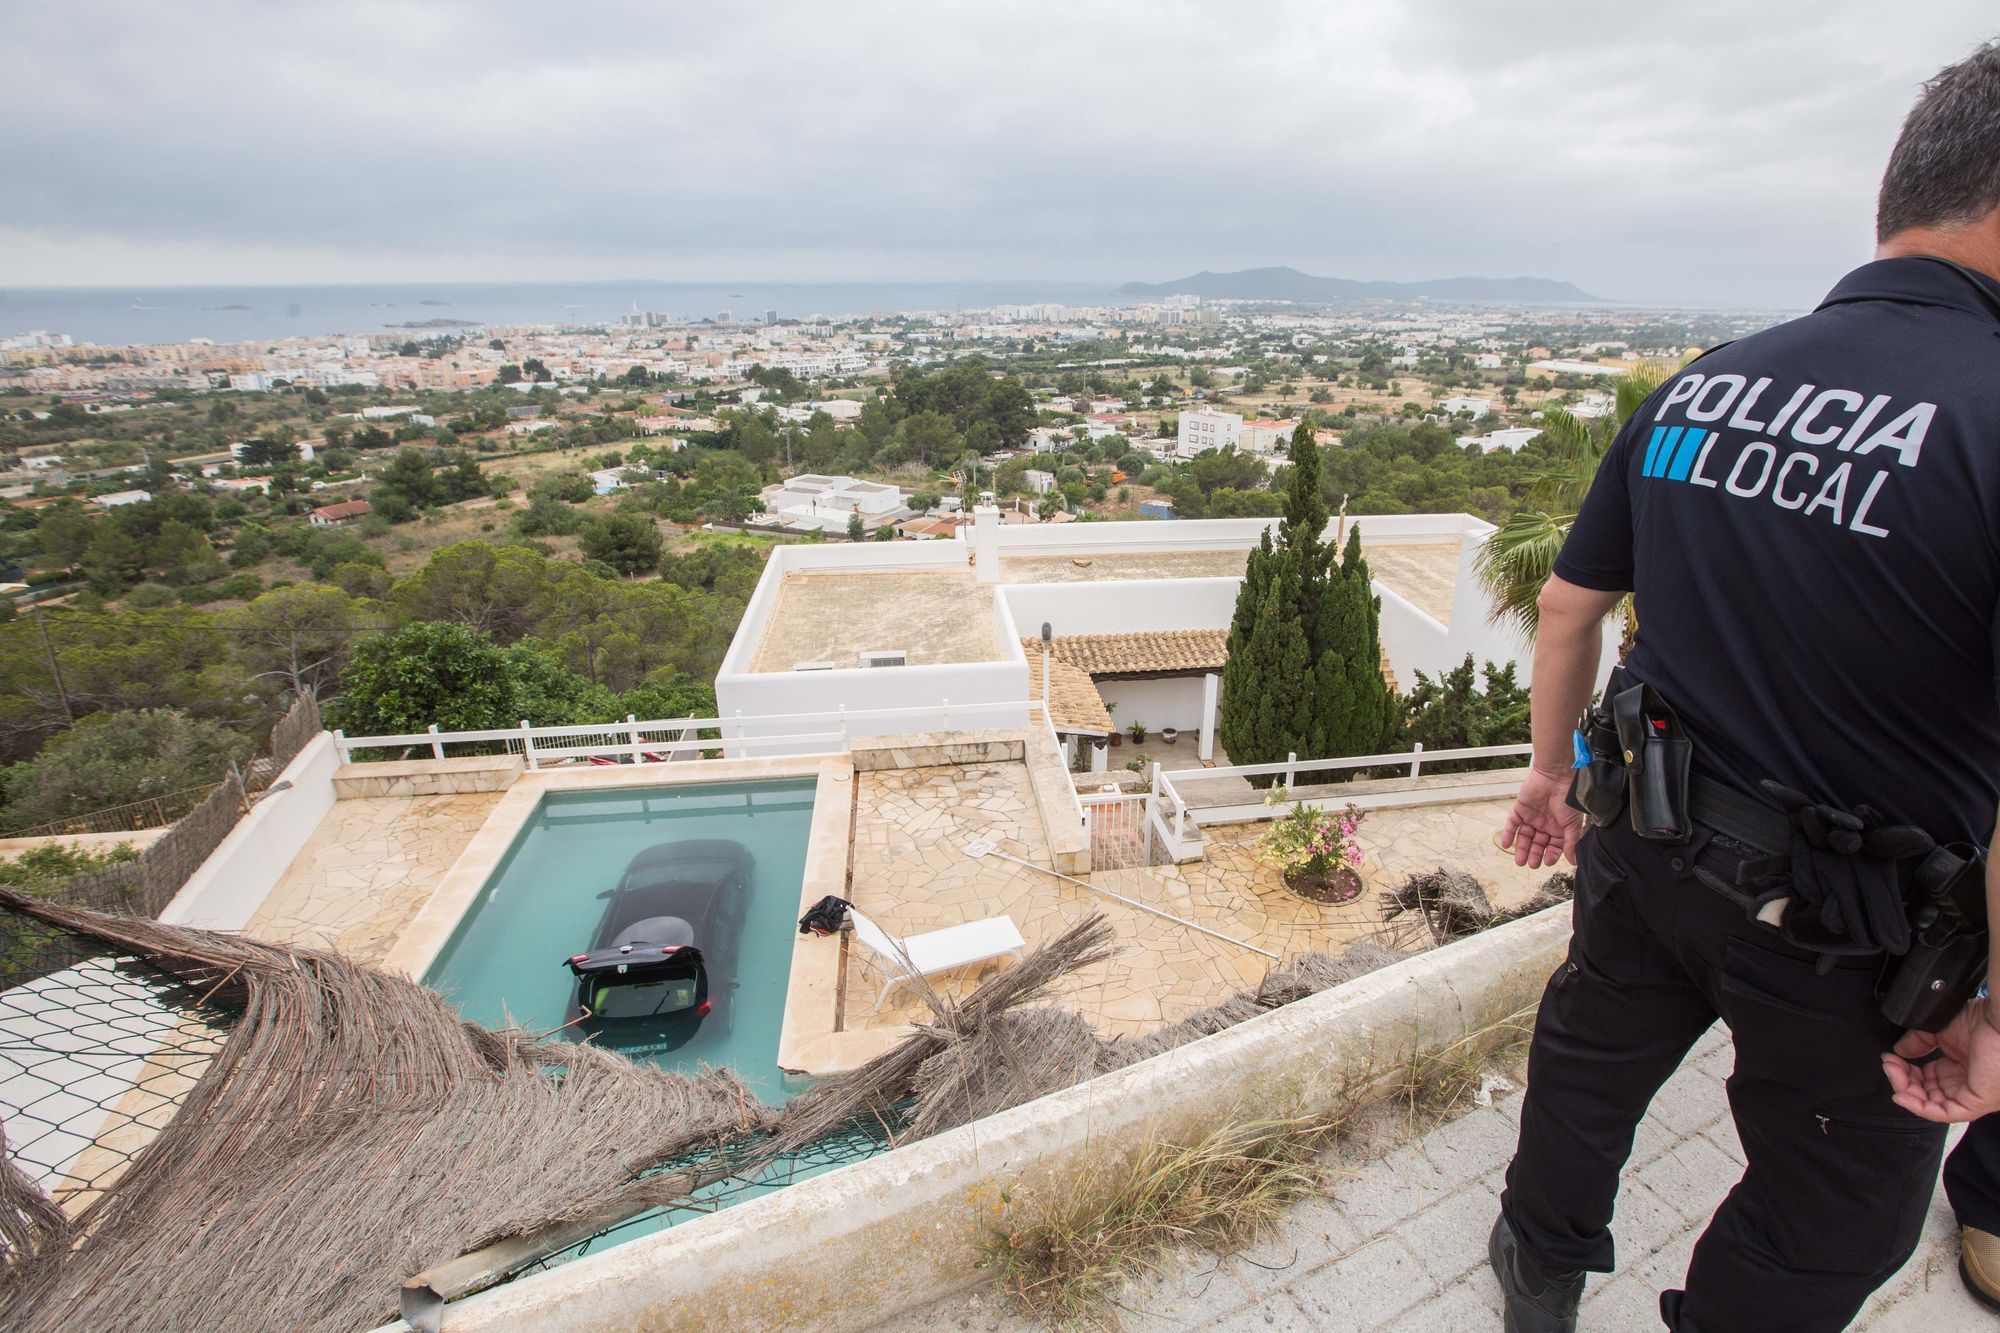
[[[798,482],[792,482],[798,484]],[[844,514],[840,522],[846,522]],[[1172,727],[1214,749],[1222,636],[1244,560],[1272,518],[1004,524],[980,504],[958,540],[780,546],[764,566],[722,671],[720,717],[738,735],[784,735],[806,713],[936,709],[882,725],[950,731],[1040,701],[1050,632],[1050,721],[1072,761],[1112,725]],[[1338,522],[1338,520],[1336,520]],[[1470,514],[1350,518],[1382,598],[1392,681],[1436,675],[1470,652],[1520,660],[1524,644],[1490,622],[1474,554],[1492,524]],[[1340,532],[1330,530],[1330,538]],[[1616,638],[1606,634],[1606,660]],[[954,713],[958,715],[954,719]],[[852,735],[880,735],[854,723]],[[1102,747],[1092,767],[1106,767]]]

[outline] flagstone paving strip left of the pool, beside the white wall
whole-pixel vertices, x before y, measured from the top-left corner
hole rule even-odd
[[[336,801],[244,935],[380,963],[498,803],[496,791]]]

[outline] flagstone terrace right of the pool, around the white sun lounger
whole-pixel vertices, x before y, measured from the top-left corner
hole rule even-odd
[[[1542,875],[1516,871],[1492,847],[1506,803],[1468,803],[1380,811],[1362,825],[1368,861],[1364,893],[1352,903],[1318,905],[1288,893],[1278,867],[1258,849],[1266,825],[1210,831],[1202,861],[1180,867],[1096,871],[1088,883],[1228,939],[1192,931],[1140,907],[1068,883],[1046,869],[1002,857],[970,857],[982,839],[998,851],[1048,865],[1024,765],[960,765],[858,773],[854,883],[850,899],[890,935],[918,935],[982,917],[1012,917],[1028,947],[1052,939],[1090,913],[1104,913],[1116,933],[1116,957],[1068,977],[1052,1003],[1088,1017],[1100,1033],[1140,1035],[1176,1023],[1228,995],[1254,987],[1274,961],[1308,949],[1338,951],[1376,937],[1422,947],[1420,925],[1382,921],[1382,893],[1412,871],[1456,865],[1494,885],[1500,905],[1528,897]],[[966,995],[990,963],[934,979],[944,995]],[[880,975],[866,949],[848,953],[844,1027],[900,1027],[928,1017],[916,987],[900,989],[878,1011]]]

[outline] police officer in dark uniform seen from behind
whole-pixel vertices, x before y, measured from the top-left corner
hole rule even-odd
[[[1578,885],[1490,1245],[1508,1329],[1576,1327],[1634,1127],[1718,1017],[1748,1167],[1660,1297],[1674,1329],[1844,1327],[1916,1247],[1936,1121],[2000,1109],[2000,1011],[1904,1035],[1876,995],[1910,931],[1884,865],[1984,847],[2000,811],[2000,44],[1926,84],[1878,240],[1812,314],[1646,400],[1542,592],[1502,843]],[[1688,749],[1692,773],[1584,833],[1572,727],[1626,590],[1606,699],[1654,777]]]

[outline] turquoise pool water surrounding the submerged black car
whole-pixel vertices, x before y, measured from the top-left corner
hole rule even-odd
[[[730,839],[756,859],[732,975],[736,989],[662,1069],[726,1065],[768,1105],[786,1099],[778,1029],[798,935],[814,779],[550,793],[466,911],[424,981],[488,1027],[554,1031],[574,979],[564,961],[590,947],[604,901],[636,853],[660,843]]]

